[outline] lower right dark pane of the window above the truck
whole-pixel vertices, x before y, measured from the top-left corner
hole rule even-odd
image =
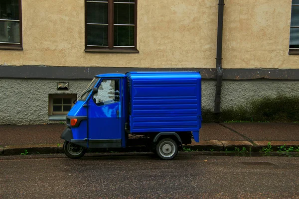
[[[134,26],[114,26],[114,46],[134,46]]]

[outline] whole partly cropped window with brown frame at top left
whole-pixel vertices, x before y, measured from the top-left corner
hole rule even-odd
[[[23,49],[21,0],[0,0],[0,49]]]

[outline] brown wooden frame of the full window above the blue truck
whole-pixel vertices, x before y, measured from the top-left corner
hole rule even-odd
[[[85,10],[85,52],[98,53],[139,53],[137,50],[137,1],[134,7],[134,47],[114,47],[114,0],[108,0],[108,47],[87,46],[87,3],[92,0],[84,0]]]

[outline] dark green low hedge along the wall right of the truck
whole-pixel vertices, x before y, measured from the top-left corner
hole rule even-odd
[[[299,123],[299,96],[264,97],[248,105],[223,109],[215,115],[202,109],[203,122],[294,122]]]

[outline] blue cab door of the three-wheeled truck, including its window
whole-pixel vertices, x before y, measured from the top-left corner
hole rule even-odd
[[[122,146],[120,78],[103,78],[88,105],[89,148]]]

